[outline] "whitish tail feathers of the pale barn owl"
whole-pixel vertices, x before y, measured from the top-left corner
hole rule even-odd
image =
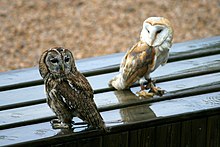
[[[114,87],[117,90],[124,90],[128,87],[127,84],[126,84],[126,81],[123,79],[121,74],[119,74],[119,75],[115,76],[114,78],[112,78],[109,81],[109,86]]]

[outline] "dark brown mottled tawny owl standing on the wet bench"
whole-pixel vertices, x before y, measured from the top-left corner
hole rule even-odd
[[[46,50],[39,61],[39,71],[44,79],[47,104],[58,119],[52,126],[71,128],[77,116],[94,128],[106,130],[104,121],[93,100],[93,89],[77,70],[70,50],[54,47]]]

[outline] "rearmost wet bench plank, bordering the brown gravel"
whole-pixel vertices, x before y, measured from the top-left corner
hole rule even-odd
[[[170,61],[218,54],[220,52],[219,40],[220,36],[216,36],[174,44],[171,49]],[[110,69],[112,67],[113,70],[118,70],[118,65],[123,55],[124,53],[119,53],[103,57],[96,57],[94,59],[84,59],[77,61],[77,66],[81,72],[87,72],[88,75],[92,75],[92,73],[89,73],[88,71],[94,71],[98,69],[103,69],[99,73],[106,73],[109,72],[109,70],[112,71],[112,69]],[[97,72],[94,74],[96,73]],[[39,75],[38,69],[31,68],[0,73],[0,83],[0,90],[2,91],[31,85],[39,85],[43,82]]]

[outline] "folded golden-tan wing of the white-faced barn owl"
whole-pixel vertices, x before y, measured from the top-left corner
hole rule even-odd
[[[120,72],[127,85],[142,78],[154,66],[155,50],[139,41],[126,53]]]

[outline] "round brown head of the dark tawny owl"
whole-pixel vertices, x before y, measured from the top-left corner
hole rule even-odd
[[[44,78],[48,73],[55,77],[63,77],[76,70],[72,53],[62,47],[46,50],[39,61],[39,71]]]

